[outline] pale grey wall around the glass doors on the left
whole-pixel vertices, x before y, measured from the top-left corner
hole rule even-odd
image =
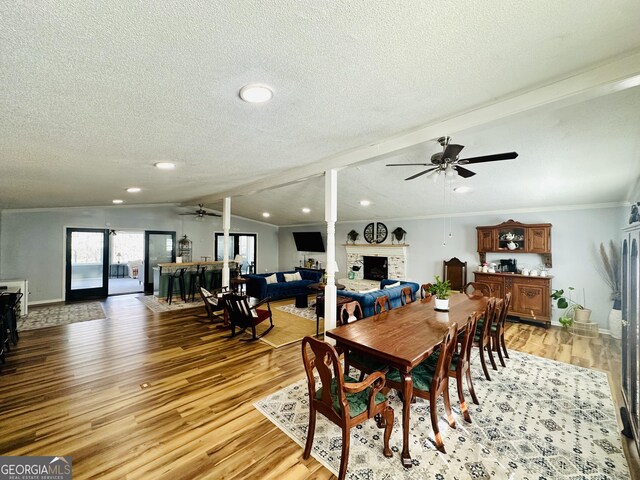
[[[0,277],[29,280],[30,303],[62,300],[67,227],[175,231],[177,239],[186,234],[192,240],[194,259],[212,257],[213,232],[222,231],[222,221],[178,215],[191,210],[173,205],[5,210],[0,217]],[[231,231],[257,233],[259,267],[277,268],[276,226],[232,217]]]

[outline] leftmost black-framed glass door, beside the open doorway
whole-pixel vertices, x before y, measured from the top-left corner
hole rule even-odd
[[[65,300],[108,295],[109,230],[67,228]]]

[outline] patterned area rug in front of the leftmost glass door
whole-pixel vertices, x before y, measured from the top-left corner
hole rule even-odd
[[[18,319],[18,331],[67,325],[106,318],[100,302],[29,306],[29,314]]]

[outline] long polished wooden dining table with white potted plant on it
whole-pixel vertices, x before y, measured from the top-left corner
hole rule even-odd
[[[448,312],[436,311],[431,299],[417,300],[326,332],[343,351],[355,350],[376,357],[399,370],[403,387],[401,458],[406,468],[412,465],[409,453],[411,370],[434,352],[451,325],[457,323],[460,329],[470,314],[484,311],[487,300],[487,297],[469,298],[455,293],[449,297]]]

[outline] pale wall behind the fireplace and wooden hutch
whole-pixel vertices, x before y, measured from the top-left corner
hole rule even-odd
[[[476,251],[476,226],[495,225],[509,219],[522,223],[551,223],[551,243],[553,268],[550,274],[552,288],[575,287],[582,302],[583,288],[586,291],[586,306],[593,310],[592,321],[601,328],[608,329],[607,320],[612,302],[610,292],[598,274],[598,248],[600,243],[618,240],[621,229],[628,221],[628,207],[583,208],[565,211],[545,211],[517,214],[481,214],[449,219],[435,218],[423,220],[384,220],[389,232],[396,227],[407,231],[409,244],[407,256],[407,280],[418,283],[430,282],[434,275],[442,275],[442,261],[458,257],[468,262],[468,280],[473,280],[473,269],[478,266]],[[336,225],[336,260],[340,274],[346,273],[347,233],[355,229],[360,233],[358,243],[364,243],[364,227],[370,222],[339,223]],[[449,228],[449,224],[451,228]],[[298,263],[298,252],[293,244],[292,231],[320,230],[326,232],[323,224],[305,228],[280,228],[280,266],[290,268]],[[449,238],[449,231],[452,237]],[[385,243],[391,243],[388,237]],[[443,245],[443,243],[445,243]],[[487,260],[516,257],[518,265],[537,266],[541,263],[538,255],[532,254],[487,254]],[[559,312],[554,312],[554,323]]]

